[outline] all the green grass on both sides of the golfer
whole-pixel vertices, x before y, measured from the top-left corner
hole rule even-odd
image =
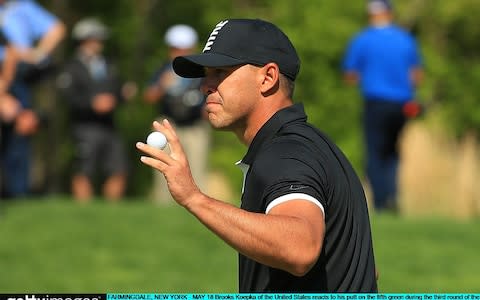
[[[234,293],[236,253],[178,206],[36,199],[0,213],[0,292]],[[371,217],[381,292],[479,292],[478,220]]]

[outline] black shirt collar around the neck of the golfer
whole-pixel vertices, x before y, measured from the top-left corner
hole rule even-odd
[[[306,122],[306,120],[303,104],[297,103],[279,110],[257,132],[242,162],[251,165],[262,145],[271,140],[285,124],[295,121]]]

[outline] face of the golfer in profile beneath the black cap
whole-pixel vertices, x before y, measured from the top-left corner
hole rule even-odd
[[[242,131],[261,95],[258,68],[252,65],[206,68],[201,90],[213,128]]]

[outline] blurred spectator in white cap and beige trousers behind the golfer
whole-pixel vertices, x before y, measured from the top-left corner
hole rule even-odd
[[[200,92],[200,78],[183,78],[175,74],[172,61],[180,55],[195,52],[196,31],[184,24],[170,27],[165,33],[168,57],[153,75],[144,99],[158,103],[159,118],[174,123],[189,158],[192,175],[201,189],[205,188],[208,167],[210,127],[205,120],[205,97]],[[172,200],[165,178],[154,173],[153,198],[156,203]]]

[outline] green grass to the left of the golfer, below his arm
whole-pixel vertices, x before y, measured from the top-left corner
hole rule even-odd
[[[176,206],[29,201],[0,236],[0,292],[236,291],[235,252]]]

